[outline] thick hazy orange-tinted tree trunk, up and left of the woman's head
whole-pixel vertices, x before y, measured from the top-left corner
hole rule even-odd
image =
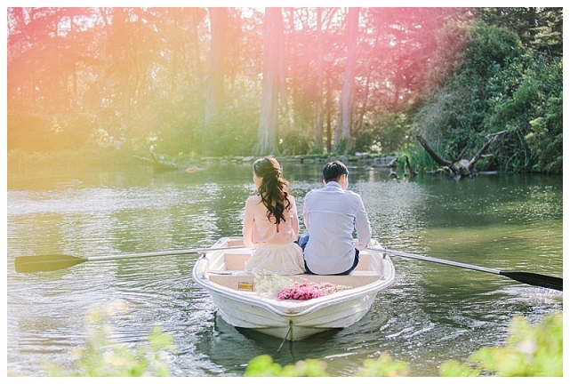
[[[221,116],[224,107],[224,48],[228,25],[226,8],[209,8],[212,24],[212,43],[208,61],[208,77],[205,88],[205,127],[212,127],[216,117]]]

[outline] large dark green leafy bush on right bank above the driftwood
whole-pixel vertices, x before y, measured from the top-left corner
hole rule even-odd
[[[507,130],[488,150],[495,169],[562,172],[562,84],[560,59],[478,22],[461,66],[418,109],[415,124],[428,142],[446,143],[443,153],[467,149],[467,159],[488,134]]]

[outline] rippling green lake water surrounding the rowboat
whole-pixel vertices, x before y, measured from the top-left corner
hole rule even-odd
[[[322,186],[322,164],[283,168],[301,215],[303,196]],[[349,188],[362,196],[373,236],[390,249],[562,276],[562,177],[391,180],[386,169],[349,170]],[[500,345],[512,316],[536,323],[563,309],[562,292],[393,256],[396,281],[360,322],[285,343],[277,352],[281,340],[237,330],[216,315],[211,297],[191,278],[196,254],[14,270],[14,258],[26,255],[164,251],[238,236],[245,198],[254,194],[251,164],[209,164],[194,173],[143,166],[37,171],[8,179],[9,374],[43,376],[45,361],[70,364],[72,351],[84,345],[87,310],[114,299],[131,310],[113,319],[117,340],[135,346],[153,324],[173,335],[174,376],[242,376],[262,354],[282,365],[317,358],[329,374],[350,376],[381,353],[407,362],[411,376],[437,376],[449,359]]]

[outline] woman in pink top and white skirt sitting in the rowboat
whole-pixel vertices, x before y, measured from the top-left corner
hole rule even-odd
[[[253,183],[258,194],[245,201],[244,244],[255,248],[245,271],[298,275],[305,272],[295,199],[289,194],[281,166],[272,156],[253,163]]]

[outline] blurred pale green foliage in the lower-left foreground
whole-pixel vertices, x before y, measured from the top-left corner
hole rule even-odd
[[[127,308],[116,300],[99,308],[92,308],[85,317],[88,327],[86,346],[75,351],[75,369],[72,372],[55,364],[46,364],[48,376],[88,377],[140,377],[170,375],[166,364],[166,351],[173,350],[173,338],[155,325],[149,335],[149,344],[136,350],[112,340],[111,316],[123,313]]]

